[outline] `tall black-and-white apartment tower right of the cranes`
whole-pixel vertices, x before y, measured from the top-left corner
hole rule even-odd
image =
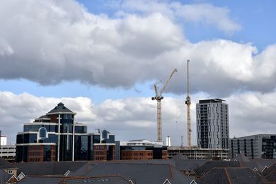
[[[197,103],[197,145],[201,148],[228,149],[228,104],[221,99]]]

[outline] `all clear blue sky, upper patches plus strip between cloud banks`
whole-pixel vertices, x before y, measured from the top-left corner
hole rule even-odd
[[[112,19],[117,9],[110,7],[106,2],[102,0],[79,1],[89,12],[107,14]],[[206,25],[206,23],[183,23],[184,34],[192,43],[212,39],[227,39],[237,43],[252,43],[257,47],[258,52],[262,52],[268,45],[276,42],[276,37],[274,36],[276,19],[273,19],[275,17],[275,1],[250,1],[250,3],[246,1],[179,2],[184,4],[210,3],[213,6],[227,8],[230,17],[233,17],[237,23],[242,25],[241,30],[228,34],[215,29],[213,25]],[[181,23],[181,20],[178,21]],[[58,85],[41,85],[26,79],[1,79],[0,89],[2,91],[8,90],[15,94],[30,92],[35,96],[76,97],[81,95],[101,102],[105,99],[121,99],[126,96],[150,96],[152,95],[152,89],[150,89],[152,81],[150,82],[138,83],[135,84],[134,88],[125,90],[124,88],[100,88],[98,85],[79,83],[79,81],[66,81]],[[70,88],[70,86],[75,86],[75,88]]]

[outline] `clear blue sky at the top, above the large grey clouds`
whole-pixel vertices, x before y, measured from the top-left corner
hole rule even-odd
[[[106,1],[80,0],[90,12],[108,14],[112,17],[117,11],[106,5]],[[173,1],[168,1],[173,2]],[[186,37],[192,42],[206,39],[230,39],[237,42],[253,43],[259,51],[267,45],[274,44],[275,34],[275,1],[179,1],[184,4],[210,3],[214,6],[225,7],[230,10],[230,16],[242,25],[242,30],[234,34],[225,34],[201,23],[188,23],[185,27]],[[274,17],[274,18],[273,18]]]

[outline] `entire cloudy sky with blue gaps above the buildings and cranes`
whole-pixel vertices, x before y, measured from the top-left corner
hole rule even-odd
[[[229,104],[230,137],[275,134],[276,2],[170,0],[0,1],[0,130],[15,143],[23,123],[59,102],[89,132],[117,140],[162,136],[186,145],[186,60],[195,103]]]

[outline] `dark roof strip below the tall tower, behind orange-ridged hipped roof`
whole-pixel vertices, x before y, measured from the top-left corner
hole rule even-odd
[[[194,171],[197,176],[203,176],[215,167],[240,167],[240,165],[237,161],[207,161]]]

